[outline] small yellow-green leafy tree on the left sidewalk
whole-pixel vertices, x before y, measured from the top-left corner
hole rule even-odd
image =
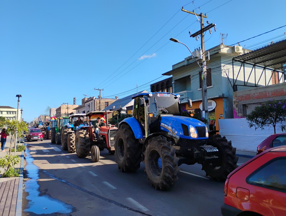
[[[10,121],[7,119],[6,125],[7,125],[7,132],[12,135],[10,141],[10,149],[9,149],[9,154],[11,154],[12,138],[14,137],[15,139],[17,128],[18,128],[18,133],[17,133],[18,137],[23,137],[23,132],[25,131],[26,133],[28,133],[28,129],[27,129],[27,124],[25,122],[20,122],[17,120]]]

